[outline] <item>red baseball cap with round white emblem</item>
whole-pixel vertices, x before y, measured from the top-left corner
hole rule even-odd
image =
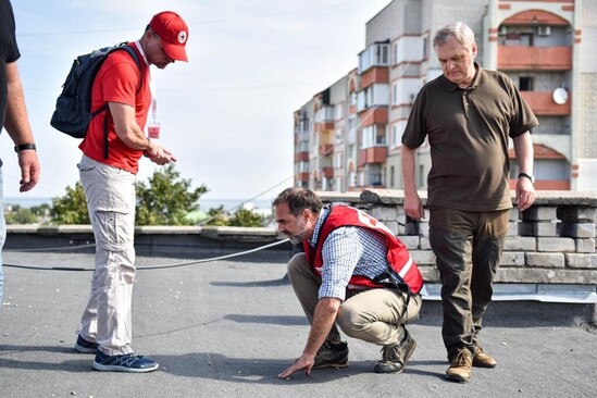
[[[188,40],[188,26],[181,15],[164,11],[153,15],[149,26],[162,39],[167,57],[177,61],[188,61],[185,46]]]

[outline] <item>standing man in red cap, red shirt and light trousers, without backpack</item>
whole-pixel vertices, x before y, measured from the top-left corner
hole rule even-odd
[[[136,356],[130,347],[130,304],[135,279],[135,181],[139,159],[159,165],[174,156],[145,133],[150,109],[156,119],[156,99],[150,88],[150,65],[164,69],[187,61],[188,27],[174,12],[154,15],[142,37],[130,46],[140,60],[126,51],[111,52],[102,63],[91,89],[91,109],[108,104],[89,123],[79,148],[80,183],[87,197],[96,239],[96,270],[91,294],[82,316],[75,349],[95,353],[100,371],[151,372],[159,364]],[[153,128],[159,124],[153,120]],[[153,136],[154,137],[154,136]]]

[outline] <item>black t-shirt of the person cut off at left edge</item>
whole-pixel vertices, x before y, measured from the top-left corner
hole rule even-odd
[[[0,0],[0,132],[7,114],[7,63],[21,57],[14,30],[12,4],[10,0]]]

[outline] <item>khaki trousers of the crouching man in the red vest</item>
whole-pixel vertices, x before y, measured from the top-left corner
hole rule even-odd
[[[321,277],[315,275],[304,253],[295,254],[288,262],[288,277],[302,306],[309,324],[318,304]],[[421,296],[411,297],[405,311],[400,293],[391,288],[375,288],[358,294],[347,293],[336,318],[336,324],[327,340],[340,340],[339,328],[347,335],[378,346],[400,341],[405,336],[403,324],[419,319]]]

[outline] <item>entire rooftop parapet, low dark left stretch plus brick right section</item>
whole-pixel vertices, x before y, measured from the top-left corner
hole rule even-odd
[[[425,281],[438,283],[428,236],[428,215],[407,221],[403,191],[371,189],[362,192],[318,192],[324,203],[346,203],[362,209],[386,224],[411,251]],[[423,203],[426,192],[421,191]],[[537,191],[534,206],[510,212],[510,228],[496,282],[503,284],[597,286],[595,224],[597,192]],[[252,250],[283,240],[274,228],[141,226],[136,228],[139,256],[203,259]],[[9,225],[4,248],[51,250],[94,244],[89,225]],[[289,242],[257,256],[240,257],[285,262],[295,252]]]

